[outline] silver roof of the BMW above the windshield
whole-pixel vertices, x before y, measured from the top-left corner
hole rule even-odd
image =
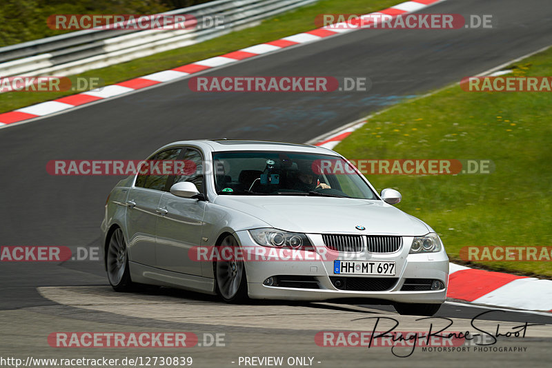
[[[274,141],[253,141],[240,139],[198,139],[190,141],[178,141],[170,143],[167,146],[175,145],[197,145],[200,147],[209,147],[212,152],[228,151],[286,151],[286,152],[306,152],[318,154],[337,155],[332,150],[315,145],[306,145],[299,143],[286,143]]]

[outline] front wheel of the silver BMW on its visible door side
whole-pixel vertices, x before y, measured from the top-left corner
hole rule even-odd
[[[219,254],[223,254],[225,247],[233,249],[239,247],[232,235],[226,236],[219,245]],[[243,260],[215,260],[215,289],[217,294],[226,303],[244,303],[248,301],[247,276]]]

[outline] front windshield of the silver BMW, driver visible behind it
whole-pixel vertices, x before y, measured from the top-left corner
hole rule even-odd
[[[338,156],[297,152],[215,152],[217,194],[377,199]]]

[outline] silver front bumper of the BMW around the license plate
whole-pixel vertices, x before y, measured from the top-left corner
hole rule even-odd
[[[259,260],[253,253],[257,245],[247,231],[236,232],[235,237],[246,256],[245,267],[248,279],[248,294],[253,299],[287,299],[287,300],[330,300],[338,298],[366,298],[383,300],[389,303],[443,303],[446,299],[446,287],[449,283],[449,258],[442,249],[440,252],[426,254],[408,254],[412,236],[403,237],[403,246],[392,254],[372,254],[359,252],[355,258],[349,254],[329,251],[320,234],[307,234],[317,249],[313,252],[301,252],[293,260],[282,260],[279,257],[264,257]],[[264,248],[264,247],[262,247]],[[333,273],[333,260],[391,260],[395,262],[394,276],[360,276],[339,275]],[[264,280],[275,276],[306,276],[316,281],[313,287],[282,287],[264,285]],[[357,278],[365,281],[380,281],[388,278],[390,286],[384,291],[361,291],[338,289],[331,277]],[[377,280],[377,279],[380,280]],[[391,280],[393,278],[394,280]],[[438,290],[404,291],[406,279],[432,279],[443,283]]]

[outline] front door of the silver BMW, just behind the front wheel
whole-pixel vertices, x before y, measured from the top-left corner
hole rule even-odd
[[[193,163],[195,170],[184,170],[186,174],[174,176],[172,184],[189,181],[195,184],[198,192],[205,194],[201,153],[188,148],[182,159],[185,167]],[[197,198],[181,198],[170,192],[161,196],[159,207],[166,214],[157,221],[157,267],[182,274],[201,275],[201,262],[190,258],[188,252],[192,247],[200,245],[205,205],[205,201]]]

